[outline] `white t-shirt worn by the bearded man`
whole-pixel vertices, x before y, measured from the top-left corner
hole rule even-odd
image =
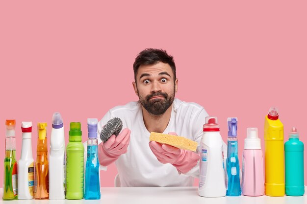
[[[115,161],[121,187],[192,186],[193,177],[199,176],[199,163],[186,174],[179,174],[172,164],[160,163],[149,147],[150,133],[145,127],[141,106],[139,101],[116,106],[98,123],[99,143],[102,142],[102,126],[111,118],[119,117],[123,121],[123,129],[131,130],[127,153]],[[163,133],[175,132],[200,143],[206,116],[208,114],[202,106],[175,98],[169,124]]]

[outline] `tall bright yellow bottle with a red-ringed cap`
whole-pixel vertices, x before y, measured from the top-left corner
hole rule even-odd
[[[264,122],[265,195],[284,196],[283,124],[272,107]]]

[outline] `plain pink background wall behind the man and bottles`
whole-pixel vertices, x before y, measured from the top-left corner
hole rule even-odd
[[[17,121],[17,159],[21,122],[34,124],[35,160],[37,122],[48,122],[50,136],[56,111],[66,144],[72,121],[86,141],[88,117],[138,100],[132,64],[147,47],[174,56],[177,97],[218,116],[224,141],[227,117],[238,117],[240,161],[247,127],[258,127],[263,147],[271,106],[280,109],[285,140],[296,126],[307,144],[306,9],[304,0],[0,1],[0,158],[5,119]],[[114,186],[116,173],[109,166],[101,185]],[[1,160],[0,186],[2,175]]]

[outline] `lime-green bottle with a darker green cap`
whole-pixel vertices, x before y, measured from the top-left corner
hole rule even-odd
[[[66,147],[66,198],[83,199],[84,146],[81,123],[71,122],[69,142]]]

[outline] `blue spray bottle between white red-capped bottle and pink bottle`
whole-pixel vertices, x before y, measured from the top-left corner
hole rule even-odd
[[[228,146],[227,146],[227,176],[228,187],[227,196],[240,196],[240,166],[238,159],[238,139],[237,139],[238,119],[236,117],[228,118]]]

